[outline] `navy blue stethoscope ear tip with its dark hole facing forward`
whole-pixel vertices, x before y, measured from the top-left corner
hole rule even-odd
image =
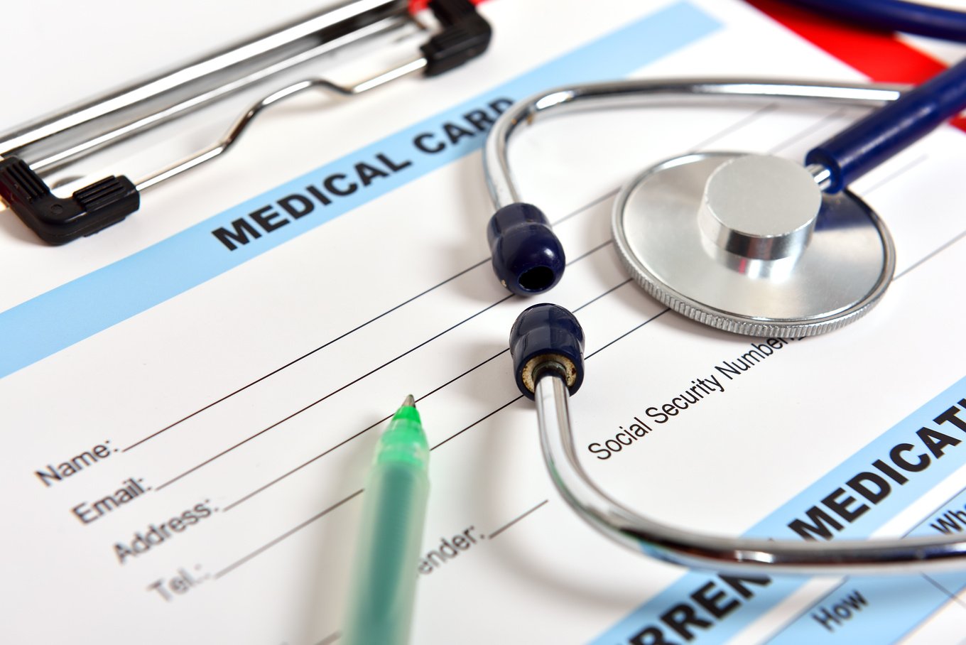
[[[497,210],[487,226],[493,270],[500,284],[517,295],[542,294],[563,275],[563,246],[540,209],[511,204]]]

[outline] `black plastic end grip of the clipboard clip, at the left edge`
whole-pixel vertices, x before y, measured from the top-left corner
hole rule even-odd
[[[48,244],[92,236],[138,209],[137,188],[127,177],[107,177],[61,198],[15,156],[0,160],[0,199]]]

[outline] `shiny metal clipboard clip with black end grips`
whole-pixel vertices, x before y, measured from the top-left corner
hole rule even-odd
[[[439,29],[412,59],[351,85],[313,77],[252,103],[213,144],[136,181],[107,177],[57,197],[44,175],[269,81],[283,71],[411,24],[408,0],[350,0],[81,105],[0,134],[0,200],[49,244],[94,235],[140,207],[140,193],[226,152],[264,109],[307,90],[353,97],[422,70],[433,76],[483,53],[489,23],[469,0],[431,0]]]

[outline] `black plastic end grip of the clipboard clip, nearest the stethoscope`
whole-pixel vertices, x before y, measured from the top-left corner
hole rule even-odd
[[[422,45],[425,75],[436,76],[476,58],[490,45],[493,30],[469,0],[430,0],[429,8],[443,26]]]

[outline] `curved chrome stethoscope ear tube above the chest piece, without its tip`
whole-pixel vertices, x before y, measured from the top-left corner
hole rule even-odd
[[[526,127],[549,116],[603,108],[647,107],[664,104],[694,104],[725,99],[745,99],[749,103],[802,103],[820,99],[825,102],[858,107],[880,107],[899,98],[907,85],[850,84],[808,81],[754,79],[674,79],[626,80],[588,83],[541,92],[515,103],[493,126],[483,152],[490,196],[497,209],[520,200],[507,149],[510,140]],[[524,127],[521,127],[524,126]],[[821,183],[827,181],[817,177]]]

